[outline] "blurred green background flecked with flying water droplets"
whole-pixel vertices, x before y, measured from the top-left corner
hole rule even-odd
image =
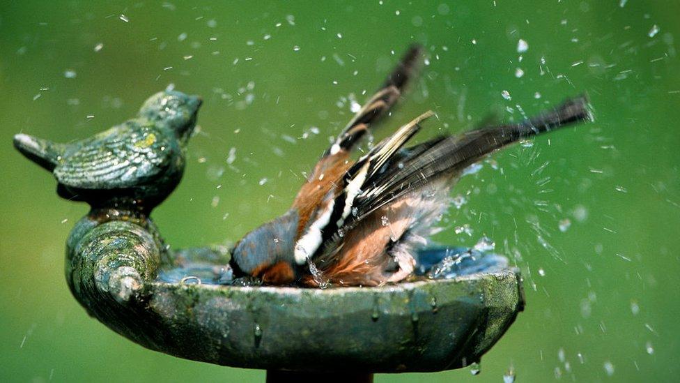
[[[264,380],[146,350],[88,317],[63,278],[87,206],[60,200],[13,134],[75,140],[169,84],[200,94],[185,177],[153,216],[176,248],[235,241],[286,210],[352,100],[414,41],[430,58],[383,134],[427,109],[440,118],[428,130],[461,131],[583,91],[597,121],[499,153],[454,191],[467,203],[437,239],[486,234],[525,276],[525,313],[481,375],[376,381],[500,382],[510,368],[520,382],[678,379],[677,1],[217,3],[0,3],[0,381]]]

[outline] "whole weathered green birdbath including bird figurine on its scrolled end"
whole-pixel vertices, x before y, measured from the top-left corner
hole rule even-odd
[[[523,310],[519,271],[477,250],[421,250],[418,275],[406,282],[327,289],[234,279],[224,246],[171,250],[150,212],[179,182],[196,100],[158,93],[136,119],[69,146],[15,137],[17,149],[54,173],[61,196],[92,206],[68,237],[65,274],[79,303],[110,329],[180,358],[264,369],[271,382],[370,381],[373,373],[470,366]],[[171,103],[187,112],[168,113]],[[138,141],[118,150],[170,158],[158,162],[168,164],[164,172],[69,173],[76,167],[68,156],[109,158],[102,146],[126,135]],[[162,154],[153,152],[160,144]],[[156,169],[134,164],[145,175]]]

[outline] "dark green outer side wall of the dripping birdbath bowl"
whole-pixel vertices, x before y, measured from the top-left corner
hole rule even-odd
[[[383,287],[153,282],[137,325],[102,320],[153,350],[223,366],[366,373],[468,366],[523,310],[516,269]]]

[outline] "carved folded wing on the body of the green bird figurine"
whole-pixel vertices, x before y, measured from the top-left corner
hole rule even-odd
[[[145,121],[130,120],[82,142],[70,144],[54,177],[70,188],[132,188],[164,174],[178,145]]]

